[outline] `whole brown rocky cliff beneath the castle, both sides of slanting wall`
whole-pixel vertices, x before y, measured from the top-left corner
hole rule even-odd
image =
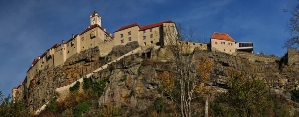
[[[138,43],[116,46],[107,57],[100,57],[100,50],[94,48],[74,55],[62,66],[40,71],[31,81],[26,93],[29,107],[31,110],[38,109],[55,96],[55,88],[68,85],[137,47]],[[142,54],[127,56],[112,63],[109,68],[93,74],[96,77],[108,79],[104,94],[99,99],[99,105],[113,104],[118,108],[134,110],[134,113],[152,108],[155,98],[162,96],[156,86],[158,81],[153,78],[158,71],[169,68],[166,62],[158,60],[158,53],[152,51],[151,59],[143,58]],[[276,93],[284,94],[289,90],[298,89],[299,64],[296,62],[287,65],[282,58],[239,52],[235,55],[228,55],[195,49],[194,64],[198,62],[199,57],[210,58],[214,61],[210,78],[205,83],[220,90],[229,86],[228,78],[232,69],[244,72],[248,78],[263,80]],[[286,97],[290,98],[288,93]],[[132,111],[125,111],[125,114],[129,112]]]

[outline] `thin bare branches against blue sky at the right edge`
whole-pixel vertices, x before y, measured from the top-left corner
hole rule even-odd
[[[283,11],[292,15],[286,29],[290,34],[290,38],[285,41],[284,48],[299,46],[299,4],[296,4],[293,10],[284,9]]]

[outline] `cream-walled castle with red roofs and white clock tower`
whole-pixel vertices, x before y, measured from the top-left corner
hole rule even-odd
[[[80,34],[72,35],[68,41],[62,40],[61,44],[56,43],[41,56],[33,59],[24,81],[20,82],[18,87],[12,89],[12,97],[16,97],[17,92],[22,94],[25,91],[24,89],[29,88],[30,81],[41,70],[62,65],[67,58],[83,50],[99,47],[100,56],[103,57],[108,55],[114,46],[125,45],[133,41],[137,41],[142,47],[164,46],[166,42],[163,32],[167,31],[165,27],[169,26],[176,27],[175,22],[166,20],[146,26],[133,23],[119,28],[112,35],[106,31],[106,28],[102,28],[102,18],[95,9],[90,15],[90,26],[87,29]],[[205,51],[220,51],[227,54],[234,54],[238,46],[236,41],[228,34],[216,32],[212,35],[209,44],[187,41],[180,43],[190,45],[193,49],[201,47]],[[18,98],[23,98],[23,95],[18,95]]]

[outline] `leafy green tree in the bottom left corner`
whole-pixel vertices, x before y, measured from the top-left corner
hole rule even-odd
[[[28,112],[23,99],[15,97],[13,101],[10,95],[4,97],[0,91],[0,117],[26,117]]]

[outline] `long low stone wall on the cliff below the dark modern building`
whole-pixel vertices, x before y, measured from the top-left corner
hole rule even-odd
[[[247,58],[248,60],[251,60],[251,61],[263,61],[266,63],[276,62],[281,59],[281,58],[277,58],[277,57],[257,55],[257,54],[246,53],[246,52],[236,52],[236,56],[239,56],[241,58]]]

